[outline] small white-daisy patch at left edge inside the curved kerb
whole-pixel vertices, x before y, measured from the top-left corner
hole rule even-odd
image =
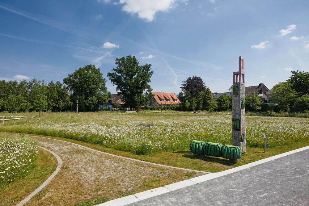
[[[28,138],[0,133],[0,189],[29,174],[37,164],[38,149]]]

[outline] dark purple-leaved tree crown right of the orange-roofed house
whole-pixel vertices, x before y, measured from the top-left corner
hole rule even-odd
[[[181,90],[184,93],[189,91],[192,97],[196,97],[199,92],[206,90],[205,82],[202,80],[201,77],[197,76],[188,77],[182,82],[181,85]]]

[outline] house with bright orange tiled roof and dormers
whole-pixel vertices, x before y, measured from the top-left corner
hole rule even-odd
[[[150,100],[149,105],[153,106],[154,103],[158,103],[159,106],[170,106],[172,104],[180,104],[180,101],[175,93],[168,92],[151,92],[154,97]]]

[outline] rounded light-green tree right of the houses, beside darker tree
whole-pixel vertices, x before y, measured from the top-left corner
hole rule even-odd
[[[296,91],[290,82],[279,82],[273,87],[271,101],[277,103],[278,107],[284,111],[290,111],[296,98]]]

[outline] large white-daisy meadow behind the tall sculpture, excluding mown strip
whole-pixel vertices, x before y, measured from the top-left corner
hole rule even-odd
[[[247,116],[247,145],[264,147],[309,139],[309,119]],[[40,119],[10,122],[7,132],[65,137],[138,154],[189,149],[191,140],[232,142],[231,113],[89,112],[45,113]]]

